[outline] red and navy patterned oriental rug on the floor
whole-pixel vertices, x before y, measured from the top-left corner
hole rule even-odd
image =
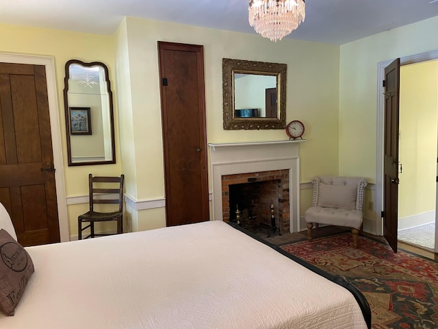
[[[354,284],[370,304],[372,328],[438,328],[438,263],[352,234],[282,245],[282,249]]]

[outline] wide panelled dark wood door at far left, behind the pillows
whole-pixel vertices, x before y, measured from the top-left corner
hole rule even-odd
[[[0,63],[0,123],[0,202],[18,242],[59,242],[44,66]]]

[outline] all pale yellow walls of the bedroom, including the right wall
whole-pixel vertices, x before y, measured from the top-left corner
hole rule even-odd
[[[400,27],[341,47],[256,34],[125,18],[114,36],[0,25],[0,51],[53,56],[63,145],[67,198],[85,196],[87,175],[126,175],[128,219],[133,230],[165,225],[162,206],[139,204],[164,199],[164,164],[157,41],[204,46],[207,143],[285,139],[283,130],[224,131],[222,58],[287,64],[287,121],[305,123],[300,144],[300,182],[317,174],[363,175],[376,179],[377,64],[432,51],[438,18]],[[110,69],[116,117],[116,164],[67,167],[64,64],[76,58],[101,61]],[[120,131],[119,131],[120,129]],[[301,212],[309,206],[302,193]],[[368,193],[374,195],[374,193]],[[87,204],[68,207],[70,234]],[[148,208],[148,207],[146,207]],[[367,208],[365,206],[365,208]]]

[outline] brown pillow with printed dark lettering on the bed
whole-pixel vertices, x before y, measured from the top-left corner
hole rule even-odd
[[[34,273],[34,263],[26,250],[5,230],[0,230],[0,310],[14,315],[27,282]]]

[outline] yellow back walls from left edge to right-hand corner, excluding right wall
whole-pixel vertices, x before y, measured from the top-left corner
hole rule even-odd
[[[130,17],[123,20],[114,36],[18,25],[0,27],[0,51],[53,56],[55,60],[67,199],[88,195],[88,173],[123,172],[129,196],[129,229],[146,230],[166,223],[162,206],[146,210],[138,206],[164,199],[158,40],[204,45],[207,143],[287,138],[283,130],[222,129],[222,58],[286,63],[287,121],[299,119],[306,125],[307,142],[300,146],[300,180],[309,182],[315,173],[337,173],[339,46],[286,39],[273,43],[255,34]],[[104,62],[110,70],[116,164],[67,167],[62,90],[64,64],[73,58]],[[77,215],[87,208],[88,204],[68,206],[70,235],[77,234]]]

